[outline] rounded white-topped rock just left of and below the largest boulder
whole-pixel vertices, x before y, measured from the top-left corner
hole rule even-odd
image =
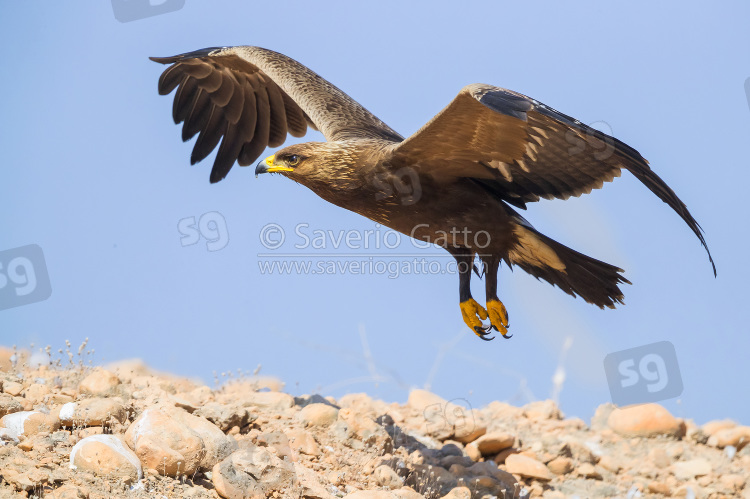
[[[143,476],[138,457],[114,435],[84,438],[73,446],[70,464],[79,470],[116,478],[127,484]]]

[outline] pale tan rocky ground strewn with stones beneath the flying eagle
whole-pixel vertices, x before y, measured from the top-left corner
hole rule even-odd
[[[0,348],[0,498],[750,498],[750,427],[656,404],[587,424],[551,401],[293,397],[270,378],[211,388],[68,354]]]

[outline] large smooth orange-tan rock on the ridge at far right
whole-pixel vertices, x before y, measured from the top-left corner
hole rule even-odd
[[[642,404],[615,409],[607,424],[612,430],[627,437],[679,437],[685,434],[685,424],[658,404]]]

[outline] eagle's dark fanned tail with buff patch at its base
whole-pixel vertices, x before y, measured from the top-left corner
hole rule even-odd
[[[578,253],[529,226],[518,225],[515,233],[518,244],[505,258],[509,266],[518,265],[537,279],[599,308],[624,304],[618,284],[630,281],[621,275],[622,269]]]

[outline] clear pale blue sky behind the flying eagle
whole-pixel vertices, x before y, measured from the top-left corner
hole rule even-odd
[[[750,402],[736,394],[750,348],[749,18],[740,2],[189,0],[121,23],[109,2],[5,2],[0,252],[39,245],[52,294],[0,311],[0,343],[57,349],[88,337],[96,362],[140,357],[207,382],[261,364],[294,394],[404,401],[428,384],[475,407],[549,397],[562,362],[562,409],[588,419],[610,400],[607,354],[669,341],[684,391],[664,404],[699,422],[747,423]],[[377,228],[278,176],[235,167],[209,185],[213,156],[189,165],[192,144],[181,142],[172,98],[156,92],[162,67],[148,56],[217,45],[287,54],[405,136],[474,82],[594,123],[638,149],[688,205],[718,278],[687,226],[627,173],[524,213],[624,268],[627,305],[601,311],[503,268],[511,340],[482,342],[465,328],[455,275],[264,275],[268,223],[286,231],[291,252],[299,224],[309,234]],[[183,246],[180,221],[212,212],[207,231],[226,245]],[[389,252],[417,253],[406,241],[377,250],[399,259]],[[475,296],[482,288],[475,279]]]

